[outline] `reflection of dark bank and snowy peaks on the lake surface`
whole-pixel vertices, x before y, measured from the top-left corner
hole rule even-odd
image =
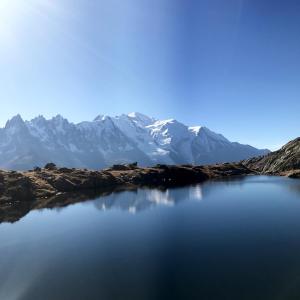
[[[186,190],[180,193],[180,188],[167,189],[161,187],[150,189],[127,187],[59,194],[55,197],[41,200],[15,201],[9,204],[0,204],[0,223],[19,221],[32,210],[48,208],[60,211],[69,205],[86,201],[93,201],[95,207],[102,211],[120,209],[136,213],[157,205],[173,206],[185,199],[201,200],[201,185],[188,187],[188,190],[189,192],[186,194]]]

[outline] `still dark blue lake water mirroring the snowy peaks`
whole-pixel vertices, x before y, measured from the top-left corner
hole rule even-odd
[[[300,181],[112,194],[0,225],[0,299],[300,299]]]

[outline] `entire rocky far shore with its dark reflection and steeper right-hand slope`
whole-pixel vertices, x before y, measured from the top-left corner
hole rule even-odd
[[[62,207],[140,187],[168,188],[246,175],[300,178],[300,138],[266,156],[210,166],[137,164],[93,171],[53,163],[25,172],[0,171],[0,222],[14,222],[32,209]]]

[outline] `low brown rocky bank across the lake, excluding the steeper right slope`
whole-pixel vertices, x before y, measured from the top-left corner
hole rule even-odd
[[[115,165],[93,171],[58,168],[47,164],[26,172],[0,171],[0,203],[47,199],[61,193],[118,187],[178,186],[200,183],[208,179],[254,173],[239,164],[211,166],[168,166],[149,168],[136,164]]]

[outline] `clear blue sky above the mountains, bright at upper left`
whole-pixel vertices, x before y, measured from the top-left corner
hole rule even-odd
[[[300,136],[300,1],[1,0],[0,125],[139,111],[276,148]]]

